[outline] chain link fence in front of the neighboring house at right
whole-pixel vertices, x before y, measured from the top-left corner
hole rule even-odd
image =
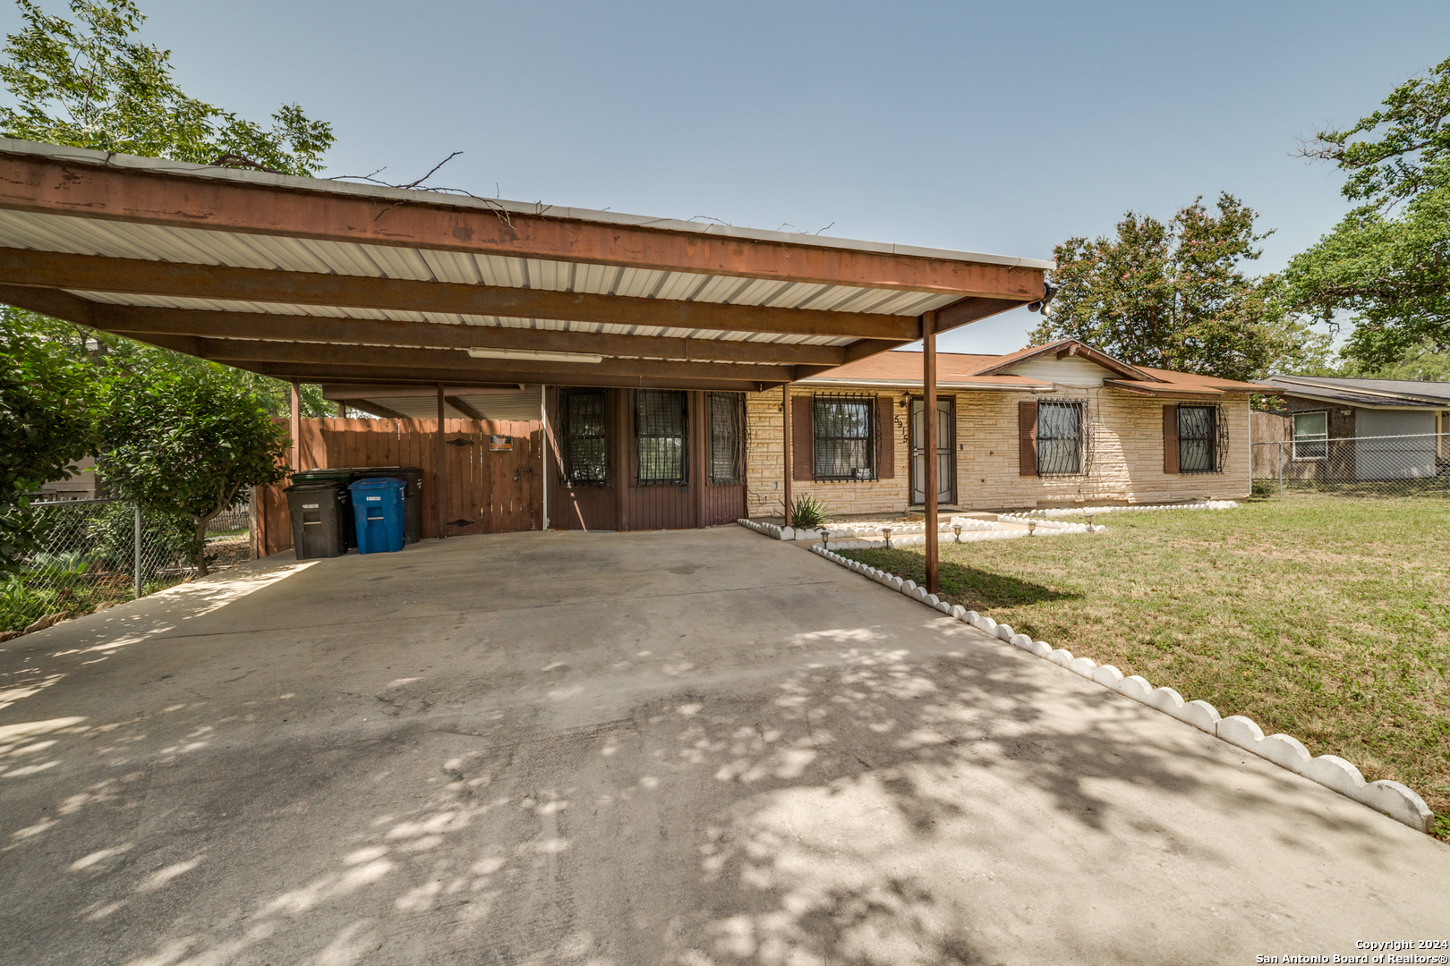
[[[1254,492],[1450,497],[1450,433],[1253,445]]]

